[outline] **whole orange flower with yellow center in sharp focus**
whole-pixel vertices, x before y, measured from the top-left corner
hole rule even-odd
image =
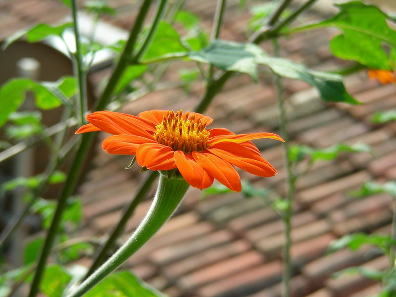
[[[227,129],[209,129],[213,120],[199,113],[167,110],[144,111],[139,116],[112,111],[87,115],[90,124],[76,134],[104,131],[113,136],[103,141],[108,153],[136,155],[139,165],[150,170],[177,168],[193,187],[205,189],[213,178],[241,191],[241,179],[233,165],[262,177],[274,176],[275,168],[261,157],[253,139],[272,138],[273,133],[234,134]]]

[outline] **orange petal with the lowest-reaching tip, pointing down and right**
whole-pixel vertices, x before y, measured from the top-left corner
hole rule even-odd
[[[238,172],[227,161],[208,151],[193,151],[193,157],[209,175],[235,192],[241,192],[241,179]]]

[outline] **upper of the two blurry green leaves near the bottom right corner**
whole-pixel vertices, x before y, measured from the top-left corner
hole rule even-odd
[[[327,252],[335,252],[345,247],[348,247],[350,250],[357,250],[364,245],[370,245],[379,247],[384,253],[387,254],[391,244],[392,239],[389,235],[365,234],[357,232],[350,235],[345,235],[342,238],[331,242]]]

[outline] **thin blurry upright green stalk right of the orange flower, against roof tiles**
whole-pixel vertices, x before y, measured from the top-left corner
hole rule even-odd
[[[279,46],[277,40],[273,40],[273,47],[275,56],[279,56]],[[284,237],[285,246],[283,249],[283,281],[282,281],[282,296],[290,297],[290,280],[292,277],[292,259],[290,255],[290,248],[292,246],[292,216],[293,216],[293,200],[295,195],[295,185],[296,179],[292,170],[292,160],[290,159],[290,142],[289,133],[287,130],[287,115],[285,109],[285,99],[284,99],[284,89],[282,86],[281,77],[273,73],[275,80],[275,87],[278,99],[278,109],[279,109],[279,125],[281,130],[281,136],[285,140],[283,143],[284,148],[284,159],[285,167],[287,171],[287,191],[286,191],[286,201],[287,207],[284,210],[282,216],[284,222]]]

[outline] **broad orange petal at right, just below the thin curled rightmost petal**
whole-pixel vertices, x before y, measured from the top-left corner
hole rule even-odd
[[[270,177],[277,173],[275,168],[268,161],[258,156],[255,151],[241,144],[220,143],[207,150],[257,176]]]

